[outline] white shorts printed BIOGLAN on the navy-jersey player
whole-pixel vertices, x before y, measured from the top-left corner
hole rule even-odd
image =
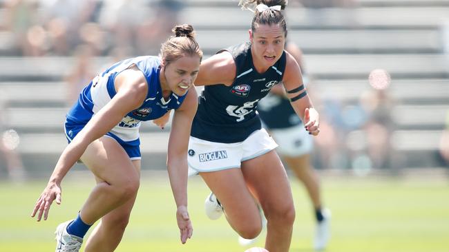
[[[215,143],[190,137],[189,176],[198,172],[239,168],[241,163],[278,147],[265,129],[258,129],[240,143]]]

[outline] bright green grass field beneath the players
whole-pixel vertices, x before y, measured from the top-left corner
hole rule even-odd
[[[448,178],[322,178],[327,207],[332,209],[328,252],[448,252]],[[62,204],[53,204],[47,221],[30,218],[45,181],[0,185],[0,251],[54,251],[59,222],[74,218],[93,179],[69,174]],[[296,222],[292,252],[312,251],[314,220],[303,187],[292,182]],[[145,176],[131,222],[117,251],[243,252],[225,218],[208,220],[203,200],[209,193],[200,178],[189,180],[189,212],[193,238],[182,245],[166,176]],[[260,235],[255,246],[263,246]]]

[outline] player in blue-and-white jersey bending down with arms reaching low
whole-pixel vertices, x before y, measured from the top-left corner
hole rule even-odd
[[[75,220],[59,224],[56,251],[114,251],[120,243],[137,196],[140,180],[140,122],[165,118],[175,110],[167,168],[177,208],[181,242],[191,238],[187,211],[187,147],[191,122],[198,107],[193,87],[202,51],[191,25],[177,25],[162,44],[161,54],[140,56],[115,63],[99,74],[79,95],[67,114],[66,137],[70,142],[61,154],[32,217],[48,217],[53,200],[61,203],[61,180],[82,160],[93,172],[96,187]],[[157,122],[163,125],[164,122]],[[155,143],[156,144],[156,143]],[[75,210],[77,211],[77,210]]]

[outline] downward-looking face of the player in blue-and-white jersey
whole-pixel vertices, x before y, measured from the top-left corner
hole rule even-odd
[[[183,96],[193,85],[199,70],[199,56],[182,56],[164,66],[164,86],[174,94]]]

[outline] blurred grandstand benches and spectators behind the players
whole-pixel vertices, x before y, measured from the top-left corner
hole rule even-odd
[[[321,113],[314,167],[447,170],[449,0],[290,0],[286,17]],[[68,107],[108,64],[157,55],[178,23],[207,57],[251,19],[232,0],[0,0],[0,178],[48,177]],[[168,136],[143,125],[143,169],[165,168]]]

